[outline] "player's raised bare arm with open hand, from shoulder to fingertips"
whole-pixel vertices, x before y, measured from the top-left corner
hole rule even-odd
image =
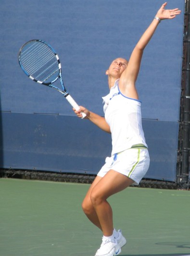
[[[143,51],[149,41],[151,40],[157,26],[161,20],[174,19],[181,11],[176,9],[165,10],[166,2],[161,6],[155,15],[150,26],[146,29],[139,42],[132,51],[126,70],[122,73],[119,81],[119,88],[121,92],[129,98],[138,99],[138,93],[135,89],[135,82],[137,80],[140,63]]]

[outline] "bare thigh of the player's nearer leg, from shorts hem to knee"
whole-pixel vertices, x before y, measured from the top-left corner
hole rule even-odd
[[[114,170],[109,170],[91,189],[89,195],[93,193],[95,197],[107,199],[109,196],[126,189],[134,183],[133,179],[128,178]]]

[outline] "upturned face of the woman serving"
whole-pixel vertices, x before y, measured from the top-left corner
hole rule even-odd
[[[106,71],[106,75],[109,75],[111,77],[120,78],[121,74],[124,72],[124,70],[127,68],[127,60],[123,58],[117,58],[115,59],[109,69]]]

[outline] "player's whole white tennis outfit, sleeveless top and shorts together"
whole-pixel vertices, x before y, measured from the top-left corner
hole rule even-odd
[[[112,133],[112,156],[106,157],[98,176],[103,177],[113,169],[133,179],[137,185],[150,165],[142,129],[141,102],[123,95],[118,84],[119,79],[110,93],[102,97],[105,120]]]

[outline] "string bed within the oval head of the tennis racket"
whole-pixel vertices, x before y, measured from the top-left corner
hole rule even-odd
[[[29,76],[42,82],[52,82],[59,76],[57,55],[46,44],[30,42],[22,49],[20,61]]]

